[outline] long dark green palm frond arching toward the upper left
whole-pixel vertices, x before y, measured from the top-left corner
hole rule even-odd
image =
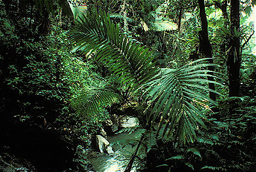
[[[95,60],[120,76],[118,79],[127,87],[138,86],[156,75],[154,56],[148,48],[120,34],[118,25],[111,22],[109,15],[93,13],[80,19],[70,31],[71,39],[83,48],[84,54],[95,53]]]

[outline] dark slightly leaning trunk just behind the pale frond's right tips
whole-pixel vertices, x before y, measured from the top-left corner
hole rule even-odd
[[[207,58],[212,58],[212,47],[208,38],[208,23],[205,14],[205,6],[204,0],[198,0],[199,9],[200,9],[200,19],[202,23],[202,31],[199,31],[199,40],[200,40],[200,51]],[[209,63],[213,64],[213,59],[209,59]],[[214,67],[210,66],[209,70],[214,71]],[[209,73],[212,75],[212,73]],[[211,76],[207,77],[208,80],[214,81],[214,78]],[[209,83],[209,89],[215,90],[214,83]],[[216,94],[214,92],[210,92],[210,98],[213,101],[216,101]]]

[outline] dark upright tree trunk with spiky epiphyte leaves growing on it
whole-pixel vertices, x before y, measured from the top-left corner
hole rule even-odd
[[[239,0],[230,1],[230,29],[234,33],[239,31],[240,18],[239,18]],[[239,96],[240,89],[240,66],[241,66],[241,57],[240,57],[240,40],[239,38],[232,39],[228,47],[232,47],[228,53],[228,88],[229,96]]]

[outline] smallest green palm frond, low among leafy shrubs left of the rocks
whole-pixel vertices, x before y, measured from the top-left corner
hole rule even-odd
[[[71,101],[71,106],[80,115],[89,116],[104,108],[107,103],[120,100],[119,94],[107,87],[87,87]]]

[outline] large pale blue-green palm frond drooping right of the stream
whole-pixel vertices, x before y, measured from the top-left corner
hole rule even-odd
[[[200,59],[193,63],[202,61],[207,61],[207,59]],[[199,126],[205,127],[203,119],[207,120],[197,106],[210,109],[207,104],[216,104],[208,96],[205,96],[204,92],[220,94],[202,85],[202,83],[221,85],[206,79],[207,76],[221,79],[218,76],[207,74],[208,70],[202,69],[212,65],[203,63],[191,66],[188,64],[175,70],[162,69],[154,80],[143,85],[147,92],[145,103],[148,104],[148,107],[145,114],[148,125],[152,126],[150,123],[157,122],[157,118],[161,114],[162,119],[159,122],[157,134],[166,123],[163,135],[167,131],[168,135],[174,133],[175,138],[182,143],[196,140],[195,131],[199,129]]]

